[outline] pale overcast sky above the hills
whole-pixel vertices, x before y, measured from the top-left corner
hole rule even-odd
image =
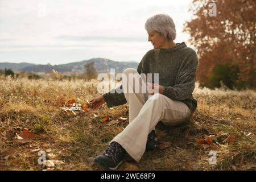
[[[144,23],[166,13],[175,43],[189,35],[192,0],[0,0],[0,63],[66,64],[102,57],[141,61],[152,49]]]

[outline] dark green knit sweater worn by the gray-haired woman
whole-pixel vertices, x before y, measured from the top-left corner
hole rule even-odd
[[[195,89],[198,57],[196,52],[183,43],[170,49],[151,49],[138,65],[138,73],[159,73],[159,85],[164,86],[164,96],[186,104],[191,113],[196,110],[197,101],[192,96]],[[116,89],[122,90],[122,85]],[[105,93],[108,107],[126,103],[123,93]]]

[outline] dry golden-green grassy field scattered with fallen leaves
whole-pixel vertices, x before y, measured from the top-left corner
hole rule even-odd
[[[1,170],[101,170],[91,163],[110,140],[126,127],[128,106],[65,112],[69,100],[83,104],[97,93],[97,82],[83,80],[0,80]],[[177,127],[156,127],[158,147],[145,152],[141,161],[123,163],[119,170],[255,170],[256,92],[196,88],[197,111],[191,121]],[[80,100],[78,100],[79,98]],[[16,134],[27,128],[34,137],[19,143]],[[208,140],[209,136],[216,137]],[[212,138],[211,138],[212,139]],[[39,164],[39,151],[46,159],[60,160],[53,167]],[[217,154],[209,164],[210,151]]]

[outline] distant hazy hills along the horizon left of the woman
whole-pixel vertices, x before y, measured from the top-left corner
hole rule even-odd
[[[109,59],[96,58],[78,61],[68,64],[30,64],[30,63],[0,63],[0,69],[13,69],[20,72],[50,72],[52,69],[55,69],[57,72],[73,72],[73,73],[82,73],[84,72],[84,64],[94,62],[94,66],[98,73],[100,72],[109,72],[110,68],[114,68],[115,72],[120,73],[126,68],[137,69],[138,64],[135,61],[113,61]]]

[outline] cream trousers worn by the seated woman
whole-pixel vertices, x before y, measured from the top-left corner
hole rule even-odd
[[[128,74],[134,73],[133,80]],[[123,89],[134,86],[134,80],[142,78],[133,68],[123,71],[127,79],[122,79]],[[138,80],[137,80],[138,81]],[[141,86],[141,84],[139,84]],[[164,125],[175,126],[186,121],[191,114],[183,102],[174,101],[163,94],[124,93],[129,105],[129,125],[111,142],[117,142],[137,162],[146,150],[147,135],[162,121]],[[110,142],[110,143],[111,143]]]

